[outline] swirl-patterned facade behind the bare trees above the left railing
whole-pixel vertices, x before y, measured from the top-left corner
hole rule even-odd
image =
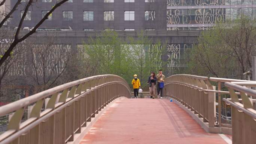
[[[31,47],[30,47],[31,46]],[[1,53],[4,53],[4,49],[7,49],[9,45],[0,45]],[[24,49],[29,49],[24,51]],[[71,52],[71,45],[18,45],[19,52],[15,55],[15,62],[9,67],[7,76],[28,76],[32,71],[32,75],[36,75],[36,71],[33,67],[37,69],[37,75],[43,76],[43,62],[44,59],[48,67],[46,67],[45,72],[47,74],[59,74],[63,71],[65,61],[67,61],[67,55]],[[48,50],[48,56],[42,58],[40,52]],[[31,55],[30,52],[33,52]],[[16,52],[15,52],[16,53]],[[34,64],[34,65],[32,65]],[[55,66],[54,66],[55,65]],[[54,68],[53,68],[54,67]],[[0,73],[2,71],[0,70]]]

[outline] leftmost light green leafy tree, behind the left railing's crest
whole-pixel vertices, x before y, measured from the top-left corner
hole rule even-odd
[[[115,32],[105,31],[103,37],[91,38],[90,45],[84,45],[90,61],[98,64],[98,72],[103,74],[120,74],[122,48]]]

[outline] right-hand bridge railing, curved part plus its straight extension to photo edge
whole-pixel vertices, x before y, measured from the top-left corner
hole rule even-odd
[[[215,90],[215,86],[211,85],[211,82],[216,82],[218,90]],[[173,97],[185,107],[194,111],[199,117],[203,118],[203,122],[207,122],[209,127],[227,127],[230,128],[231,120],[226,116],[222,116],[222,101],[221,94],[231,95],[230,91],[221,91],[221,85],[225,82],[232,82],[236,84],[243,84],[243,86],[254,87],[255,81],[248,80],[236,80],[236,79],[222,79],[214,77],[202,77],[193,76],[187,74],[178,74],[167,77],[165,80],[165,95]],[[249,88],[248,88],[249,89]],[[252,90],[253,91],[253,90]],[[216,116],[216,94],[218,95],[218,114],[221,117]],[[236,95],[240,95],[240,91],[234,92]],[[252,96],[252,95],[250,95]],[[248,97],[248,96],[247,96]],[[227,98],[230,100],[230,98]],[[242,99],[238,99],[242,102]],[[250,98],[252,105],[255,105],[256,99]]]

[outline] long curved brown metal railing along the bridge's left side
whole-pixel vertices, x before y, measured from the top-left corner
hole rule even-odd
[[[119,76],[100,75],[76,80],[0,107],[0,116],[14,112],[0,144],[64,144],[98,111],[120,96],[130,98],[128,83]],[[49,98],[41,112],[45,99]],[[20,123],[24,108],[30,117]]]

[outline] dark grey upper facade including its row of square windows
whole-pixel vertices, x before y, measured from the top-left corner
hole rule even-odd
[[[15,0],[12,0],[12,6]],[[17,27],[26,0],[13,15]],[[33,27],[57,0],[38,0],[30,7],[24,27]],[[166,30],[166,1],[158,0],[69,0],[58,7],[39,30]]]

